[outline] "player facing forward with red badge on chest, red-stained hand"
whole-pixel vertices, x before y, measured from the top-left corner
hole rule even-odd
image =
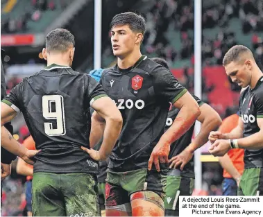
[[[104,69],[101,85],[124,124],[108,165],[106,215],[163,216],[170,145],[192,126],[198,103],[168,69],[142,55],[143,17],[115,15],[110,31],[117,64]],[[170,103],[180,112],[164,133]]]

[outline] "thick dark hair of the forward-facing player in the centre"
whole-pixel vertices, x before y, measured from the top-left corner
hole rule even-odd
[[[123,12],[115,15],[110,23],[110,30],[113,26],[128,25],[132,31],[142,33],[144,35],[146,24],[144,17],[134,12]]]

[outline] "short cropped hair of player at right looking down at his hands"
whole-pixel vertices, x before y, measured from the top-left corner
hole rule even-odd
[[[230,64],[230,62],[239,62],[241,55],[244,53],[248,53],[248,55],[251,55],[253,57],[253,53],[246,46],[232,46],[232,48],[230,48],[223,57],[223,66],[225,67],[226,65]]]

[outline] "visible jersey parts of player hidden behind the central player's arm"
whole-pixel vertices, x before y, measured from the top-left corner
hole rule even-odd
[[[198,103],[199,106],[203,105],[203,101],[201,101],[200,98],[198,98],[197,96],[194,96],[194,99],[196,100],[196,102]],[[165,130],[168,130],[170,128],[170,126],[173,124],[173,121],[176,119],[176,116],[178,115],[180,110],[178,110],[176,107],[172,107],[168,117],[167,117],[167,123],[165,126]],[[173,144],[171,144],[171,149],[170,149],[170,153],[169,153],[169,159],[171,159],[171,157],[174,157],[176,155],[179,155],[183,150],[185,150],[185,148],[191,144],[192,142],[192,136],[193,136],[193,132],[194,132],[194,125],[195,123],[192,125],[191,128],[189,128],[189,130],[187,130],[187,132],[185,132],[185,134],[183,134],[182,137],[180,137],[178,140],[176,140],[175,142],[173,142]],[[178,168],[180,169],[180,168]],[[183,171],[181,171],[181,176],[185,176],[185,177],[192,177],[194,178],[194,157],[192,157],[192,159],[185,165]]]

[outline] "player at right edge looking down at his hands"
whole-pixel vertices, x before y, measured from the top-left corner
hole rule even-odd
[[[246,46],[233,46],[223,58],[231,80],[246,88],[239,98],[239,124],[228,134],[210,132],[210,153],[225,155],[230,148],[245,148],[239,196],[263,196],[263,73]]]

